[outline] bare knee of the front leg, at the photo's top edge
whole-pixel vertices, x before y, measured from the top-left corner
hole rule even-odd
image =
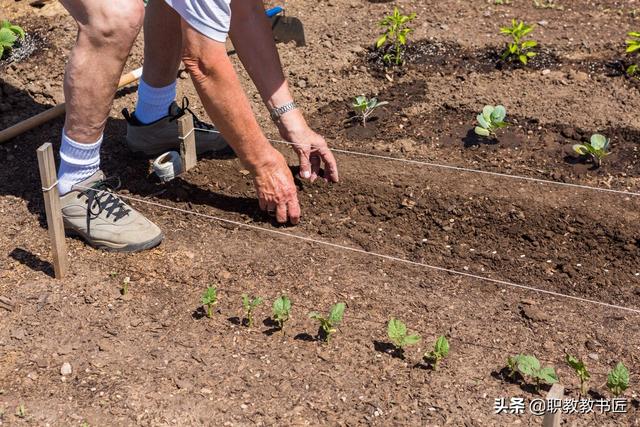
[[[144,22],[144,4],[135,0],[101,2],[99,10],[81,25],[93,44],[129,47]]]

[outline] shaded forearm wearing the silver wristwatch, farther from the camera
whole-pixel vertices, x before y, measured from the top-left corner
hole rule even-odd
[[[262,0],[231,1],[229,35],[264,103],[274,108],[290,102],[293,97],[282,73]]]

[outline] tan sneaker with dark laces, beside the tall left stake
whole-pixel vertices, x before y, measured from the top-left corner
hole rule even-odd
[[[114,252],[153,248],[163,239],[157,225],[109,190],[98,171],[60,197],[64,228],[91,246]]]

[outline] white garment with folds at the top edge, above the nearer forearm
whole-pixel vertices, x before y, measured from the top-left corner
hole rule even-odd
[[[187,24],[224,43],[231,25],[231,0],[164,0]]]

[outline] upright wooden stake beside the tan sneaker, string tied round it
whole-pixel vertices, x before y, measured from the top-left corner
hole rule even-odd
[[[62,279],[67,274],[69,261],[67,259],[67,242],[64,240],[64,223],[62,222],[56,164],[53,159],[51,143],[42,144],[37,153],[44,207],[47,212],[47,227],[53,250],[53,269],[56,279]]]

